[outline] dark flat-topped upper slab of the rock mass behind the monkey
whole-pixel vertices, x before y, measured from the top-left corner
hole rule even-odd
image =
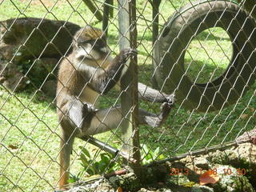
[[[10,18],[1,22],[0,54],[8,61],[60,58],[80,26],[42,18]]]

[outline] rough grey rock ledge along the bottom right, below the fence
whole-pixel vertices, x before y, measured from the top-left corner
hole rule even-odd
[[[217,150],[214,153],[199,157],[190,156],[180,161],[146,167],[142,173],[146,174],[147,177],[146,181],[142,183],[138,181],[133,173],[111,177],[110,183],[115,189],[120,186],[123,191],[137,191],[139,186],[143,185],[143,188],[138,190],[139,192],[255,192],[255,164],[256,146],[252,143],[242,143],[238,147],[228,150]],[[191,169],[189,166],[191,166]],[[195,168],[201,168],[202,172],[201,170],[194,172]],[[170,169],[179,172],[170,175]],[[189,174],[186,174],[185,170],[188,170]],[[206,170],[216,171],[219,180],[217,179],[218,182],[214,184],[199,186],[200,174]],[[154,177],[157,172],[159,174],[169,174],[166,179],[163,179],[165,182],[157,181],[159,175],[156,178]],[[95,191],[101,190],[97,189]]]

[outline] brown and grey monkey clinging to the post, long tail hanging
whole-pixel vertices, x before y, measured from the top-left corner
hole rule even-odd
[[[118,127],[124,116],[120,106],[95,109],[98,97],[111,90],[125,73],[124,66],[137,50],[126,48],[112,58],[106,34],[93,26],[85,26],[74,34],[73,50],[62,58],[58,70],[57,114],[62,134],[60,142],[60,180],[63,188],[69,178],[70,154],[74,138],[93,135]],[[174,106],[174,94],[160,93],[138,83],[140,98],[161,102],[161,112],[152,114],[138,110],[138,123],[160,126]]]

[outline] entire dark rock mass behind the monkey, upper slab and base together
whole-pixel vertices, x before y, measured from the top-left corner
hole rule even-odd
[[[56,83],[48,81],[56,81],[58,59],[68,53],[80,26],[41,18],[11,18],[0,23],[0,83],[20,91],[30,83],[39,88],[47,78],[42,90],[54,97]]]

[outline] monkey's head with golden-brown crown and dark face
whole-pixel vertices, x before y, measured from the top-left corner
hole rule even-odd
[[[106,44],[106,36],[102,30],[92,26],[86,26],[78,30],[74,37],[76,39],[74,51],[75,57],[79,60],[93,59],[98,60],[105,58],[110,52]]]

